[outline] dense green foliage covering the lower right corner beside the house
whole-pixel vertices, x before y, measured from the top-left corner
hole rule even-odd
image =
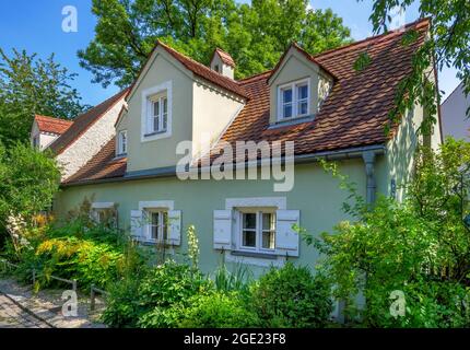
[[[463,222],[470,209],[469,164],[470,144],[463,141],[449,139],[438,151],[422,148],[403,202],[381,197],[374,208],[363,201],[345,206],[354,221],[309,238],[325,254],[334,294],[349,301],[351,314],[363,294],[360,315],[366,326],[470,324],[470,231]],[[354,186],[343,187],[356,198]],[[404,315],[390,312],[395,291],[403,293]]]

